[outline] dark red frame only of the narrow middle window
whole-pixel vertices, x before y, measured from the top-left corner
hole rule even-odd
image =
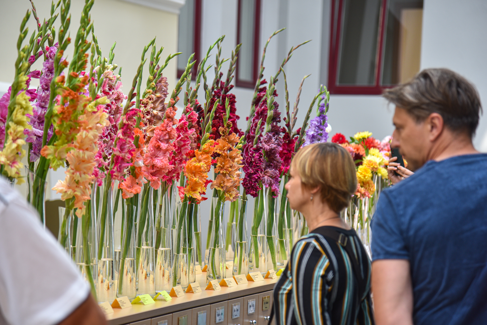
[[[238,1],[238,15],[237,15],[237,44],[240,44],[240,8],[242,7],[242,1]],[[254,66],[252,72],[252,81],[239,79],[239,61],[240,56],[237,57],[237,67],[235,73],[235,85],[243,88],[254,88],[257,82],[258,69],[259,69],[259,43],[261,34],[261,0],[255,0],[255,15],[254,15]]]

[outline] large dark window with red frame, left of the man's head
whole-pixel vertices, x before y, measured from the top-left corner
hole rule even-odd
[[[333,0],[328,88],[380,94],[419,72],[422,0]]]

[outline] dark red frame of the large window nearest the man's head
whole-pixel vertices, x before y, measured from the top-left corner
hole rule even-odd
[[[381,86],[382,54],[385,38],[385,23],[387,16],[387,0],[382,0],[379,12],[379,29],[377,50],[375,52],[375,85],[373,86],[339,86],[337,85],[337,63],[340,45],[340,29],[343,17],[343,1],[332,0],[332,17],[330,26],[330,58],[328,61],[328,91],[332,94],[343,95],[380,95],[382,90],[394,85]],[[336,5],[338,3],[338,6]]]

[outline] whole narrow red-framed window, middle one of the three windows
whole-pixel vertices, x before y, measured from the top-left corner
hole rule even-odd
[[[259,69],[261,0],[239,0],[237,44],[242,43],[237,58],[237,87],[254,88]]]

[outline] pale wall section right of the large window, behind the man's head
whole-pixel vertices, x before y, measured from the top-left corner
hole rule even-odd
[[[487,108],[487,2],[425,0],[421,69],[449,68],[471,81]],[[487,117],[474,139],[487,152]]]

